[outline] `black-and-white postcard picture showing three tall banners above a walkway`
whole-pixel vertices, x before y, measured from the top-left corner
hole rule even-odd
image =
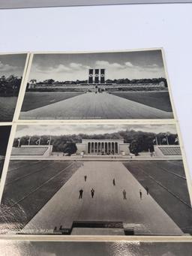
[[[162,50],[34,53],[20,119],[173,119]]]

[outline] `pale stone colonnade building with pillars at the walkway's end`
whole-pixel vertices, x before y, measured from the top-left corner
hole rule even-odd
[[[82,139],[82,143],[76,143],[77,154],[84,152],[86,155],[128,155],[129,143],[124,140],[113,139]]]

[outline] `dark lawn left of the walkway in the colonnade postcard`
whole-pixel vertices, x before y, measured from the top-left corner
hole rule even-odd
[[[20,161],[20,167],[16,161],[17,168],[13,169],[14,161],[10,163],[1,200],[0,214],[4,218],[0,219],[0,227],[7,222],[9,228],[12,223],[15,231],[27,224],[80,167],[80,163],[73,161],[42,160]]]

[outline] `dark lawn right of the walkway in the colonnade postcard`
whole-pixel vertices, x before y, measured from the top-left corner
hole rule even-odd
[[[176,167],[178,165],[178,167]],[[127,170],[140,184],[149,188],[149,194],[172,218],[184,233],[192,234],[192,210],[181,161],[130,161],[124,162]],[[169,170],[172,173],[166,172]],[[144,191],[145,192],[145,191]],[[180,198],[184,203],[179,200]],[[187,203],[189,206],[187,206]]]

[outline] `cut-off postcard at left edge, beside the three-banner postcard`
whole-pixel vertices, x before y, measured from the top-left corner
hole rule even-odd
[[[13,120],[26,58],[26,53],[0,54],[0,122]]]

